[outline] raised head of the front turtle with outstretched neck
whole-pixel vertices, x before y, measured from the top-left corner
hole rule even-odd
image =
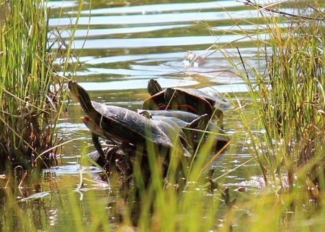
[[[85,89],[82,88],[77,82],[69,80],[68,87],[74,99],[80,103],[82,109],[89,115],[89,113],[93,112],[93,105],[91,104],[91,100],[89,94]]]

